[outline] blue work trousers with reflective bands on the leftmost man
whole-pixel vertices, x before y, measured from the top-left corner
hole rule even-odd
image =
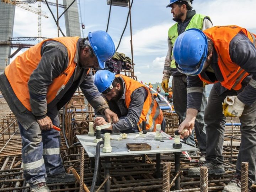
[[[47,115],[54,125],[59,126],[57,108]],[[44,182],[46,175],[56,175],[65,171],[60,156],[59,131],[41,130],[37,122],[27,130],[20,123],[18,126],[22,138],[22,163],[27,183],[35,185]]]

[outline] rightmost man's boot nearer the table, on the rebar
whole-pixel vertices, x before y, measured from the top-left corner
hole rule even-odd
[[[204,166],[208,168],[208,175],[223,175],[225,174],[225,170],[222,166],[222,164],[217,164],[214,162],[207,162],[204,161],[202,164],[200,164],[199,167],[193,167],[188,170],[188,176],[200,176],[200,167]]]

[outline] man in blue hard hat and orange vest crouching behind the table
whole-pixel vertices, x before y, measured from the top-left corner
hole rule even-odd
[[[119,117],[119,122],[112,124],[109,130],[135,133],[142,130],[143,121],[146,121],[148,131],[155,131],[156,124],[161,124],[161,129],[165,130],[162,111],[143,84],[124,75],[115,76],[107,70],[97,71],[94,83],[106,97],[110,109]],[[96,118],[95,126],[100,125],[98,121],[102,118]]]

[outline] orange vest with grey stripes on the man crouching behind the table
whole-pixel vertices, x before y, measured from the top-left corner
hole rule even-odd
[[[121,76],[126,84],[126,107],[129,109],[131,95],[135,89],[139,87],[144,87],[148,93],[148,96],[144,102],[142,114],[140,115],[138,128],[142,130],[142,122],[146,121],[146,129],[149,131],[156,130],[156,124],[161,124],[163,121],[162,110],[160,109],[158,102],[154,99],[154,97],[150,94],[149,90],[142,85],[141,83],[127,77],[124,75],[116,75],[116,77]]]

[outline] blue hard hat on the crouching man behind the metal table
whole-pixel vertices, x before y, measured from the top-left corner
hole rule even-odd
[[[99,92],[106,94],[113,89],[112,82],[115,74],[108,70],[99,70],[94,75],[94,84],[98,88]]]

